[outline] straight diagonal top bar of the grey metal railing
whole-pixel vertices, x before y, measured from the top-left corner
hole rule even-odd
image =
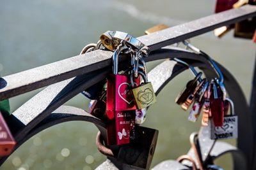
[[[138,39],[147,45],[151,51],[154,51],[164,46],[204,34],[218,27],[234,24],[255,16],[256,6],[244,5],[241,8],[223,11],[186,24],[153,32],[152,34],[141,36]],[[74,76],[91,73],[103,67],[111,66],[112,55],[113,52],[110,51],[95,50],[45,66],[5,76],[3,80],[6,81],[6,86],[0,89],[0,101],[59,81],[67,80]]]

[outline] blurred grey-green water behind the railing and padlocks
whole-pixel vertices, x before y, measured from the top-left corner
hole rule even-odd
[[[78,55],[84,45],[95,43],[102,32],[118,30],[141,36],[153,25],[178,25],[211,15],[215,1],[209,0],[0,0],[0,70],[1,75]],[[222,39],[212,32],[191,39],[227,67],[250,98],[255,45],[252,41],[233,38],[233,32]],[[148,63],[148,67],[157,62]],[[188,122],[174,99],[186,82],[189,71],[170,82],[147,113],[146,127],[159,130],[152,166],[166,159],[177,159],[188,152],[189,134],[200,124]],[[42,90],[42,89],[41,89]],[[40,90],[10,99],[12,111]],[[66,104],[87,108],[81,94]],[[0,169],[95,169],[105,157],[95,146],[97,128],[86,122],[56,125],[29,139],[6,160]],[[234,144],[234,141],[229,141]],[[230,169],[230,157],[217,161]]]

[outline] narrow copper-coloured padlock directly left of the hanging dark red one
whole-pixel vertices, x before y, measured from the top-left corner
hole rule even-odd
[[[209,117],[211,117],[211,86],[212,83],[209,83],[207,90],[204,94],[204,106],[203,106],[203,113],[202,113],[202,126],[208,126],[209,124]]]

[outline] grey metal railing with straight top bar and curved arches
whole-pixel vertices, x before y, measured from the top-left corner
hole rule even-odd
[[[200,67],[204,71],[205,76],[211,78],[216,76],[216,73],[209,69],[211,66],[209,66],[207,60],[202,55],[168,45],[204,34],[223,25],[234,24],[255,16],[256,6],[245,5],[241,8],[224,11],[186,24],[164,29],[163,31],[141,36],[138,39],[152,49],[150,55],[145,58],[146,62],[166,58],[179,58],[186,60],[186,62],[193,66]],[[6,86],[0,88],[0,101],[49,85],[49,87],[14,111],[10,118],[6,120],[17,141],[16,148],[37,132],[51,125],[71,120],[93,122],[93,124],[97,125],[103,136],[106,137],[106,126],[98,118],[89,114],[86,115],[86,113],[77,108],[61,105],[79,94],[79,92],[106,78],[106,75],[111,71],[112,54],[109,51],[95,50],[1,78],[0,83],[4,82],[3,84],[6,84]],[[253,129],[252,117],[255,116],[250,112],[250,107],[246,103],[244,94],[235,78],[225,67],[220,64],[218,66],[223,72],[225,86],[230,98],[233,99],[236,105],[237,115],[239,116],[237,147],[246,156],[249,165],[248,169],[252,169],[255,166],[253,160],[255,159],[256,144],[254,139],[256,129]],[[172,72],[168,72],[170,67],[172,67]],[[166,61],[162,63],[161,67],[158,67],[157,71],[155,70],[156,72],[153,70],[149,73],[149,78],[154,73],[157,73],[157,77],[162,78],[161,81],[152,79],[152,85],[156,94],[163,89],[168,81],[185,69],[187,67],[177,64],[177,62],[172,61],[170,64]],[[159,73],[161,74],[159,75]],[[60,109],[56,110],[58,108]],[[54,110],[56,110],[55,113],[52,113]],[[79,114],[80,112],[81,114]],[[0,160],[1,163],[6,158],[3,157]]]

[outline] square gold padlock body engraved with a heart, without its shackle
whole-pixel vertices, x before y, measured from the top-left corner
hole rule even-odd
[[[135,87],[131,92],[138,110],[156,102],[156,94],[150,82]]]

